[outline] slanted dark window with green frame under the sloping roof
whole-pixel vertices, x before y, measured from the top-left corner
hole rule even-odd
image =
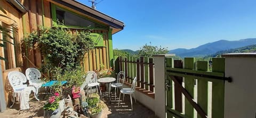
[[[64,25],[68,25],[68,26],[80,26],[80,27],[91,26],[92,28],[103,28],[103,29],[107,28],[107,26],[103,26],[95,22],[86,20],[84,17],[62,10],[59,7],[56,7],[56,16],[57,16],[57,20],[60,23],[63,23]]]

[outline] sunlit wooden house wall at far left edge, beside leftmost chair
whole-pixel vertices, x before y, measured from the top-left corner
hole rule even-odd
[[[9,3],[7,3],[7,2],[5,2],[5,1],[0,1],[0,6],[4,9],[4,11],[6,12],[6,14],[4,14],[2,11],[0,11],[0,14],[4,14],[4,15],[6,15],[7,17],[9,17],[9,18],[11,18],[11,19],[7,19],[6,17],[0,17],[0,24],[1,25],[3,25],[3,24],[13,24],[13,23],[15,23],[15,25],[17,26],[17,39],[15,39],[15,40],[11,40],[10,39],[10,41],[11,42],[15,42],[15,46],[17,46],[16,44],[17,43],[20,43],[20,39],[23,37],[23,33],[22,33],[22,31],[23,31],[23,29],[22,29],[22,19],[21,19],[21,14],[19,13],[19,11],[17,11],[15,8],[13,8]],[[15,21],[15,22],[14,22]],[[10,33],[10,35],[13,35],[13,33]],[[2,34],[0,34],[0,39],[2,39],[3,38],[3,35]],[[0,42],[0,43],[3,43],[2,41]],[[9,63],[9,68],[15,68],[15,69],[13,69],[13,70],[20,70],[20,69],[17,69],[16,67],[18,67],[18,66],[22,66],[22,57],[21,57],[21,53],[16,53],[16,55],[17,55],[17,61],[18,61],[18,63],[20,63],[20,65],[15,65],[16,63],[15,63],[15,61],[13,61],[14,60],[14,58],[15,58],[15,56],[14,56],[14,50],[15,50],[15,52],[21,52],[20,51],[20,47],[18,46],[18,47],[15,47],[15,48],[13,48],[13,46],[12,47],[9,47],[7,50],[9,50],[8,52],[11,52],[11,53],[9,53],[9,57],[8,57],[8,59],[9,59],[9,61],[8,61],[8,63]],[[0,56],[1,57],[4,57],[4,48],[3,47],[1,47],[0,48]],[[9,85],[9,81],[8,81],[8,78],[7,78],[7,74],[9,73],[9,71],[8,70],[5,70],[5,62],[6,61],[3,61],[3,60],[0,60],[1,61],[1,68],[2,68],[2,70],[3,70],[3,83],[4,83],[4,91],[5,91],[5,101],[6,101],[6,104],[10,101],[10,97],[8,97],[9,96],[9,92],[10,92],[10,86],[8,86]]]

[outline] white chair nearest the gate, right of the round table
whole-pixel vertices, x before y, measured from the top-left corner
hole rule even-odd
[[[137,81],[137,77],[134,77],[133,81],[132,81],[132,86],[131,88],[122,88],[120,90],[120,94],[119,94],[119,101],[118,101],[118,107],[119,107],[119,103],[120,103],[120,97],[121,97],[121,93],[123,94],[123,100],[124,100],[124,95],[125,94],[129,94],[130,95],[130,98],[131,98],[131,107],[132,107],[132,94],[133,94],[133,97],[134,97],[134,101],[136,103],[136,98],[135,98],[135,95],[134,95],[134,92],[135,92],[135,87],[136,87],[136,81]],[[133,110],[133,109],[132,109]]]

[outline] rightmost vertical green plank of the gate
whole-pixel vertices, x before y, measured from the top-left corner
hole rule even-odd
[[[225,58],[212,58],[212,71],[225,72]],[[224,117],[225,81],[212,82],[212,118]]]

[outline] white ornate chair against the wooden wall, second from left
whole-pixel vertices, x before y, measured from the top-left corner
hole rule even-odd
[[[39,88],[44,84],[44,81],[40,79],[41,72],[36,68],[27,68],[26,77],[29,81],[29,85],[36,88],[36,95],[38,95]]]

